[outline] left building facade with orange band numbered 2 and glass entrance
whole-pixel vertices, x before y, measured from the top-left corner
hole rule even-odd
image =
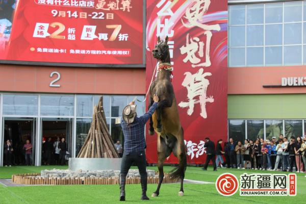
[[[55,76],[50,74],[56,72]],[[60,78],[55,84],[50,83]],[[10,139],[15,150],[25,140],[33,145],[33,164],[43,164],[43,144],[64,137],[70,157],[78,155],[87,137],[93,106],[103,95],[103,105],[113,140],[123,142],[120,118],[123,108],[135,97],[144,99],[144,68],[78,68],[0,65],[1,165],[4,143]],[[136,102],[137,103],[137,102]],[[143,114],[144,103],[137,103]],[[24,159],[15,161],[22,164]]]

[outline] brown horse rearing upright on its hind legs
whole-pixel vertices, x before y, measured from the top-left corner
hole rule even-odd
[[[170,156],[171,152],[179,160],[179,166],[170,172],[170,176],[181,179],[180,196],[184,195],[183,182],[187,166],[184,131],[180,122],[179,111],[177,111],[176,99],[170,79],[171,64],[167,42],[168,36],[165,41],[161,41],[160,37],[158,37],[158,44],[152,50],[153,57],[159,61],[159,71],[156,80],[150,86],[150,96],[157,94],[160,99],[157,111],[150,118],[149,129],[150,135],[154,134],[154,130],[158,134],[159,183],[157,190],[152,194],[154,197],[160,193],[160,187],[164,179],[164,161]],[[151,105],[152,98],[150,97],[149,107]]]

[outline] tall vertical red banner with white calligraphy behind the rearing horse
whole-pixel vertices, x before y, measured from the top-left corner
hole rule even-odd
[[[157,63],[157,37],[169,37],[172,84],[188,163],[205,162],[205,138],[227,138],[227,0],[147,1],[146,82]],[[157,163],[157,136],[146,136],[147,161]],[[176,163],[173,154],[166,163]]]

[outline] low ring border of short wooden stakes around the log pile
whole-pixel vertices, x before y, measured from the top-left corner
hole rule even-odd
[[[177,183],[179,179],[170,179],[169,174],[164,175],[163,184]],[[40,177],[40,173],[13,174],[12,182],[24,185],[110,185],[119,184],[118,177]],[[140,184],[140,177],[128,177],[126,184]],[[158,184],[158,174],[148,177],[148,184]]]

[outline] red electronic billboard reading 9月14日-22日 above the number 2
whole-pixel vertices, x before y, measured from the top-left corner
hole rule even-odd
[[[1,2],[0,60],[144,64],[143,1]]]

